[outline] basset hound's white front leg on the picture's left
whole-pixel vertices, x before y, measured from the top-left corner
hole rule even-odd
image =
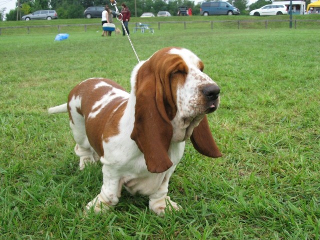
[[[115,171],[115,170],[114,170]],[[108,166],[102,166],[103,184],[100,193],[86,205],[86,209],[94,207],[95,212],[101,210],[107,210],[109,206],[114,206],[118,203],[118,189],[119,180],[118,176],[115,176]]]

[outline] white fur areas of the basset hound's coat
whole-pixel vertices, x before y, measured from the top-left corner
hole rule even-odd
[[[146,168],[143,153],[138,149],[135,141],[130,138],[134,125],[136,75],[141,65],[145,62],[141,61],[132,70],[130,94],[117,88],[112,88],[101,99],[92,103],[92,111],[89,113],[89,117],[95,117],[115,97],[128,98],[126,108],[119,121],[119,133],[109,137],[107,141],[102,141],[104,156],[100,157],[100,161],[103,164],[103,184],[100,193],[87,204],[87,209],[92,207],[98,212],[117,204],[122,184],[132,194],[148,195],[149,208],[157,214],[164,212],[167,202],[174,209],[180,208],[178,204],[171,201],[167,196],[169,178],[182,157],[185,145],[184,140],[191,135],[193,128],[198,125],[204,116],[204,114],[200,114],[203,109],[197,105],[197,99],[201,94],[199,87],[214,82],[198,69],[199,58],[191,51],[172,48],[169,54],[180,55],[189,69],[185,84],[179,86],[177,90],[177,112],[171,120],[173,136],[168,156],[173,165],[162,173],[149,172]],[[112,87],[101,81],[94,86],[94,89],[102,86]],[[121,104],[124,102],[122,101]],[[86,137],[83,116],[76,111],[76,108],[81,106],[81,98],[73,96],[69,101],[69,106],[73,120],[73,123],[70,122],[70,126],[76,141],[75,152],[80,156],[80,168],[83,168],[86,162],[96,159],[94,157],[95,152]],[[51,113],[61,112],[62,108],[63,105],[60,105],[50,108],[49,111]],[[63,109],[65,108],[66,105]]]

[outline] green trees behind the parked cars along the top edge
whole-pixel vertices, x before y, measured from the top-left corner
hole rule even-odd
[[[194,4],[194,1],[191,0],[121,0],[117,2],[119,10],[122,2],[129,7],[131,16],[140,16],[143,12],[156,14],[158,11],[168,11],[171,15],[177,15],[178,6],[191,7],[193,15],[199,15],[200,12],[200,3]],[[271,0],[257,0],[247,9],[247,0],[228,0],[228,2],[238,8],[243,15],[248,14],[252,9],[272,4]],[[82,18],[84,17],[83,11],[88,6],[110,5],[108,0],[19,0],[19,8],[17,7],[18,1],[15,4],[16,8],[5,14],[6,20],[16,20],[17,15],[20,20],[21,16],[40,9],[54,9],[59,18]],[[0,11],[0,20],[2,17],[3,10]]]

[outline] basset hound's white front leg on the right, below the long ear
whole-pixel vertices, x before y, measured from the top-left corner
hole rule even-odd
[[[155,193],[149,195],[149,209],[154,211],[158,215],[163,214],[165,208],[169,210],[179,210],[181,208],[181,206],[179,206],[174,201],[171,201],[170,197],[166,195],[166,193],[168,192],[169,179],[174,169],[175,166],[171,167],[168,170],[163,178],[159,189]]]

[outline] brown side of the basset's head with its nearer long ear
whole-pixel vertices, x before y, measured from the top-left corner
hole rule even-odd
[[[154,53],[136,73],[133,139],[144,154],[150,172],[163,172],[172,166],[167,154],[172,138],[170,120],[176,113],[170,76],[177,56]]]

